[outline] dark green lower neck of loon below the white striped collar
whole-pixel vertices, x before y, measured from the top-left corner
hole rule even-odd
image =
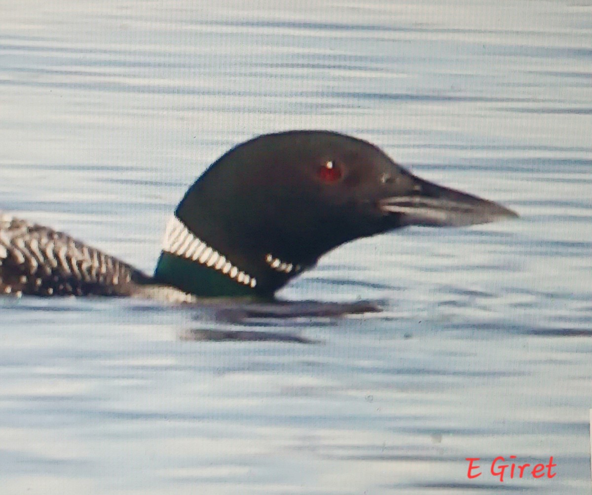
[[[160,253],[154,278],[197,297],[255,297],[250,286],[239,284],[224,273],[168,252]]]

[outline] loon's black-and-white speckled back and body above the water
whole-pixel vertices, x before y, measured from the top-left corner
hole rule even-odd
[[[190,297],[63,232],[0,214],[0,294]]]

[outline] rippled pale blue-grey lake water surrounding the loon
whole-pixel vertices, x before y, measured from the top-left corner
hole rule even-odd
[[[279,294],[381,314],[0,299],[0,493],[589,494],[590,1],[0,2],[0,210],[151,271],[210,162],[295,128],[521,219],[359,240]]]

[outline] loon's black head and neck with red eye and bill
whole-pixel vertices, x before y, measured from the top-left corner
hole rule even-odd
[[[272,295],[359,237],[516,216],[422,180],[361,139],[326,131],[263,135],[224,154],[189,188],[155,278],[202,297]]]

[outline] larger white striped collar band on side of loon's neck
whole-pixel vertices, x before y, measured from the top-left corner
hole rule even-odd
[[[229,279],[247,287],[255,288],[257,280],[245,273],[226,256],[195,236],[184,223],[173,216],[166,225],[162,250],[170,255],[179,256],[211,268]]]

